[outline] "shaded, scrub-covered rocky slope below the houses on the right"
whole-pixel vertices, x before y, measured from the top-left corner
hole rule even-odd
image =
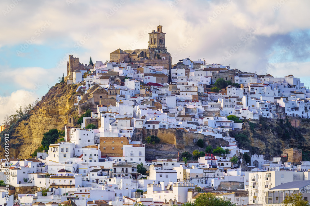
[[[296,124],[297,127],[292,126]],[[310,121],[308,119],[285,119],[246,121],[243,131],[230,132],[236,137],[238,146],[250,149],[251,153],[279,155],[284,149],[296,147],[303,150],[303,159],[307,159],[310,150]]]

